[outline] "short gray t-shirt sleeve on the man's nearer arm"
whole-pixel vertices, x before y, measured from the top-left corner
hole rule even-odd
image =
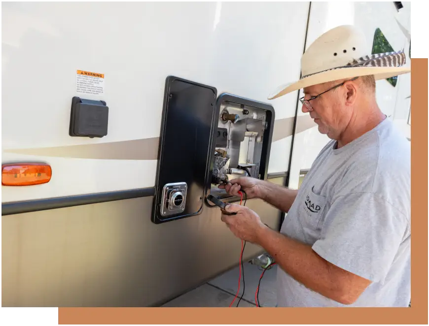
[[[352,193],[332,203],[313,250],[342,269],[383,282],[406,227],[405,216],[382,198]]]

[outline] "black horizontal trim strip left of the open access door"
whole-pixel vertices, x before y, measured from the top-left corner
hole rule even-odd
[[[122,191],[100,192],[88,195],[66,196],[48,199],[1,204],[1,216],[53,210],[58,208],[98,204],[116,200],[149,197],[155,195],[155,187],[140,188]]]

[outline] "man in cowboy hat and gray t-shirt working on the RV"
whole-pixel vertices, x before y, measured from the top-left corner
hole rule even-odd
[[[278,306],[410,302],[410,145],[375,97],[375,80],[409,68],[402,52],[373,59],[367,48],[353,26],[326,32],[304,53],[303,77],[271,97],[303,88],[302,111],[330,138],[299,190],[253,178],[219,186],[287,213],[280,233],[247,207],[221,217],[278,263]]]

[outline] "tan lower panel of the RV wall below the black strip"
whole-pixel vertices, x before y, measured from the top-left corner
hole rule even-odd
[[[246,206],[278,227],[272,206]],[[151,208],[145,197],[1,217],[1,306],[156,305],[238,264],[219,209],[156,225]],[[246,259],[260,252],[246,245]]]

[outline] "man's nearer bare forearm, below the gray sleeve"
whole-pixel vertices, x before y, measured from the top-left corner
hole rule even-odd
[[[355,293],[346,289],[346,276],[306,244],[268,227],[261,229],[257,244],[276,260],[287,274],[310,290],[343,304],[352,303]],[[357,295],[357,294],[356,294]]]

